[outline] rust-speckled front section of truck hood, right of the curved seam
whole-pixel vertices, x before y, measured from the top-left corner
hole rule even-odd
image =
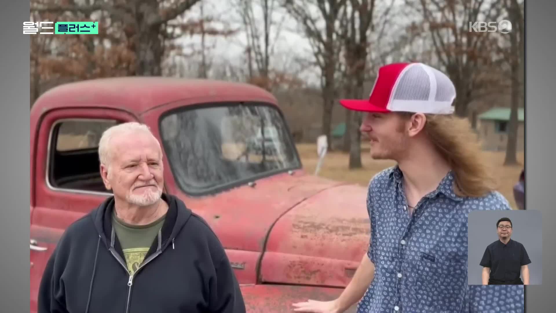
[[[262,282],[345,287],[369,247],[367,189],[338,185],[297,204],[272,228]]]

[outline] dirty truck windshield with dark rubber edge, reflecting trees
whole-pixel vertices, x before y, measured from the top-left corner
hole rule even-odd
[[[301,167],[284,118],[266,104],[183,107],[162,117],[160,133],[176,183],[191,195]]]

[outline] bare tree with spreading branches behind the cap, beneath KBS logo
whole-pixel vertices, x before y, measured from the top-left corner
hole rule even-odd
[[[499,70],[500,34],[471,31],[469,26],[470,22],[496,21],[504,9],[502,1],[419,0],[420,6],[406,1],[422,18],[421,30],[430,34],[436,60],[454,82],[458,116],[470,115],[473,100],[502,90],[500,76],[493,75]],[[475,127],[474,118],[471,124]]]

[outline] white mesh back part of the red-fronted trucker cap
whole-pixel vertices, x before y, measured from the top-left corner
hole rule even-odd
[[[394,84],[388,109],[451,114],[454,98],[455,88],[448,76],[423,63],[413,63],[405,67]]]

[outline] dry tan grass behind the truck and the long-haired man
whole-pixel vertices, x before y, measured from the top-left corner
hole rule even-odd
[[[365,149],[368,148],[368,146],[363,144],[362,148]],[[299,150],[301,162],[305,170],[308,173],[314,173],[318,162],[316,145],[297,144],[297,149]],[[505,167],[502,165],[504,163],[504,156],[504,152],[484,152],[485,159],[493,165],[495,173],[499,178],[499,192],[508,199],[513,209],[517,209],[513,195],[513,187],[519,178],[523,165]],[[523,164],[523,158],[524,154],[518,153],[518,162],[520,164]],[[319,175],[330,179],[358,183],[366,186],[376,173],[395,165],[395,163],[391,161],[373,160],[368,153],[362,153],[361,160],[363,162],[363,169],[349,170],[347,169],[348,160],[349,154],[347,153],[336,151],[327,153],[322,162]]]

